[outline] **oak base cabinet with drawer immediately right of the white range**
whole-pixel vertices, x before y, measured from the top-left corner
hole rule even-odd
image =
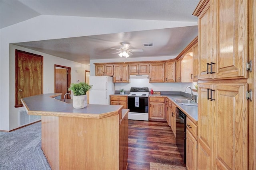
[[[165,120],[165,98],[149,97],[149,120]]]

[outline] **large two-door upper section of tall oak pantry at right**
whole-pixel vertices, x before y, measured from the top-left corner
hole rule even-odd
[[[198,16],[198,79],[248,78],[248,0],[201,1],[193,15]]]

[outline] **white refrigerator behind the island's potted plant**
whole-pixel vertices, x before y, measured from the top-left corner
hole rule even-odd
[[[110,76],[90,76],[89,104],[110,104],[110,94],[114,94],[113,77]]]

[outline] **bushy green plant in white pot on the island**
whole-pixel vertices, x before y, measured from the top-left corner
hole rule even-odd
[[[86,92],[90,90],[92,86],[88,83],[71,83],[68,90],[71,90],[73,93],[73,107],[75,109],[82,109],[87,106],[87,95]]]

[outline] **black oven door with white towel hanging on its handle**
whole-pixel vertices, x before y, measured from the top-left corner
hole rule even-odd
[[[135,98],[139,98],[139,104],[136,106]],[[128,109],[130,112],[148,113],[148,97],[128,96]]]

